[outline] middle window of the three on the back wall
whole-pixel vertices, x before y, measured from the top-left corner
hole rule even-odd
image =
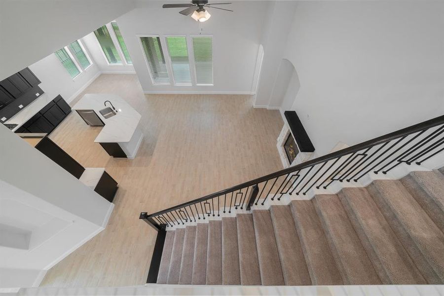
[[[186,37],[166,37],[175,84],[191,84]]]

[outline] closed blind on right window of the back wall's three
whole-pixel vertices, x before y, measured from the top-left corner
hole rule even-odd
[[[194,67],[197,84],[213,84],[213,39],[193,37]]]

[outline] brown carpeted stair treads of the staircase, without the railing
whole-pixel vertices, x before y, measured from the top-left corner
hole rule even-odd
[[[158,284],[444,284],[444,169],[167,231]]]

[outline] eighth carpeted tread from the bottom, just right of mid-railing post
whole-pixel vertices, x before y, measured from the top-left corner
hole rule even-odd
[[[262,285],[285,285],[270,211],[254,210],[253,222]]]

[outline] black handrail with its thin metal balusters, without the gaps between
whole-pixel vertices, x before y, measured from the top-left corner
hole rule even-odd
[[[389,170],[391,170],[394,167],[396,167],[397,165],[401,164],[402,162],[405,162],[409,165],[412,161],[418,160],[418,158],[420,158],[422,156],[427,156],[426,154],[429,152],[435,151],[433,155],[429,155],[427,157],[424,157],[424,159],[422,159],[422,161],[441,152],[442,150],[439,150],[438,148],[441,145],[444,145],[443,139],[439,138],[438,141],[433,142],[431,145],[429,145],[429,142],[431,142],[433,139],[441,136],[444,133],[444,125],[442,127],[438,128],[437,130],[432,131],[432,133],[430,133],[430,134],[427,134],[426,131],[429,131],[432,128],[442,125],[442,124],[444,124],[444,115],[424,121],[424,122],[421,122],[421,123],[418,123],[418,124],[414,124],[412,126],[403,128],[403,129],[398,130],[396,132],[392,132],[387,135],[377,137],[372,140],[369,140],[369,141],[366,141],[366,142],[363,142],[363,143],[360,143],[360,144],[357,144],[357,145],[354,145],[354,146],[351,146],[348,148],[344,148],[344,149],[320,156],[320,157],[312,159],[312,160],[308,160],[306,162],[303,162],[301,164],[297,164],[297,165],[289,167],[287,169],[283,169],[283,170],[274,172],[272,174],[268,174],[263,177],[259,177],[254,180],[251,180],[251,181],[239,184],[239,185],[235,185],[235,186],[226,188],[226,189],[218,191],[218,192],[214,192],[212,194],[208,194],[206,196],[203,196],[203,197],[200,197],[197,199],[193,199],[191,201],[182,203],[180,205],[177,205],[177,206],[174,206],[174,207],[162,210],[162,211],[158,211],[153,214],[148,215],[148,213],[143,212],[143,213],[141,213],[140,219],[147,220],[149,218],[149,220],[154,223],[155,227],[159,227],[160,225],[173,226],[173,225],[175,225],[174,220],[171,219],[171,217],[167,217],[168,219],[166,219],[164,217],[164,215],[171,213],[171,215],[176,219],[175,215],[173,214],[173,211],[176,212],[177,216],[179,216],[179,214],[177,213],[178,210],[179,210],[179,212],[182,211],[181,209],[185,209],[185,211],[186,211],[186,207],[189,207],[191,205],[196,205],[199,203],[200,203],[200,206],[202,209],[200,214],[202,214],[202,216],[204,216],[203,219],[205,219],[204,214],[208,214],[208,213],[207,213],[206,205],[204,204],[204,207],[202,207],[203,202],[206,202],[210,199],[213,199],[215,197],[221,197],[221,196],[225,196],[225,201],[226,201],[227,195],[230,194],[231,195],[231,203],[232,203],[234,192],[239,191],[236,193],[236,197],[234,200],[234,206],[236,209],[239,206],[242,208],[245,201],[246,201],[246,196],[247,196],[249,189],[250,189],[250,195],[249,195],[249,199],[247,200],[247,205],[252,206],[253,203],[251,202],[251,200],[253,198],[253,202],[255,202],[255,199],[256,199],[258,191],[259,191],[258,190],[259,187],[256,187],[255,188],[256,190],[253,190],[252,186],[255,186],[255,185],[258,186],[259,184],[265,182],[265,185],[263,185],[262,191],[260,192],[259,197],[257,198],[257,200],[255,202],[255,204],[258,204],[258,200],[259,200],[260,196],[262,195],[262,193],[264,191],[263,189],[266,187],[268,181],[271,181],[274,179],[274,181],[271,181],[271,182],[273,182],[273,185],[270,187],[270,190],[268,191],[268,194],[265,196],[265,199],[268,197],[268,195],[270,194],[270,192],[274,188],[274,185],[276,184],[277,180],[280,177],[285,176],[283,182],[279,185],[279,189],[277,190],[277,192],[274,193],[274,196],[271,198],[273,200],[277,194],[281,194],[280,197],[282,197],[283,194],[288,193],[288,191],[290,191],[290,188],[292,188],[293,185],[295,185],[297,179],[299,178],[298,174],[304,169],[309,169],[308,172],[305,172],[305,175],[302,176],[302,178],[299,180],[299,182],[296,184],[296,186],[293,188],[293,190],[290,191],[289,194],[292,194],[295,191],[296,187],[303,184],[305,177],[307,177],[310,174],[311,170],[318,164],[322,164],[321,167],[317,171],[315,171],[313,173],[313,175],[311,175],[311,178],[307,179],[308,181],[305,181],[305,184],[303,184],[302,187],[299,188],[300,190],[296,192],[297,195],[304,189],[305,186],[309,185],[313,179],[316,179],[316,181],[314,183],[312,183],[312,185],[309,186],[309,188],[306,189],[302,193],[305,195],[305,193],[310,188],[312,188],[314,185],[318,184],[318,182],[320,180],[322,180],[322,178],[325,175],[329,175],[328,173],[330,173],[330,170],[333,170],[333,172],[327,177],[327,179],[325,179],[325,181],[323,181],[320,185],[318,184],[318,186],[316,186],[317,188],[324,185],[327,181],[330,181],[330,183],[328,183],[327,185],[324,185],[323,186],[324,188],[326,188],[328,185],[330,185],[334,181],[342,182],[343,180],[346,180],[347,182],[350,182],[351,180],[353,180],[353,181],[357,182],[365,174],[367,174],[371,170],[375,169],[376,167],[379,167],[380,165],[384,164],[384,166],[379,167],[378,170],[374,171],[374,173],[377,174],[379,171],[386,168],[389,164],[397,161],[397,163],[395,165],[393,165],[389,169],[382,171],[385,174]],[[416,134],[413,138],[408,139],[405,143],[403,143],[403,140],[405,140],[408,136],[413,135],[415,133],[418,133],[418,134]],[[423,136],[423,137],[421,138],[420,136]],[[397,140],[397,141],[393,144],[390,143],[394,140]],[[414,140],[418,140],[418,141],[414,142]],[[390,145],[388,145],[389,143],[390,143]],[[408,146],[410,144],[411,144],[411,146]],[[379,148],[377,148],[375,151],[370,153],[370,149],[377,147],[379,145],[381,145]],[[429,145],[429,146],[427,146],[427,145]],[[414,154],[414,156],[411,157],[413,152],[417,151],[419,148],[423,148],[424,146],[426,146],[425,149],[421,150],[420,153]],[[365,151],[363,151],[363,150],[365,150]],[[436,151],[436,150],[438,150],[438,151]],[[360,151],[362,151],[362,153],[358,153]],[[382,160],[379,160],[380,157],[382,157],[383,155],[387,155],[388,152],[390,152],[390,154],[388,154],[388,156],[385,156]],[[338,160],[341,157],[347,156],[347,155],[349,155],[349,157],[345,161],[343,161],[341,164],[339,164],[336,168],[334,168],[334,165],[336,164],[336,162],[338,162]],[[374,158],[373,158],[373,156],[374,156]],[[403,160],[407,156],[409,156],[409,158],[407,158],[407,160]],[[354,162],[355,159],[357,160],[356,162]],[[314,178],[315,176],[318,175],[318,173],[322,172],[322,169],[331,160],[334,160],[333,164],[330,165],[319,178]],[[387,161],[388,161],[388,163],[387,163]],[[373,165],[373,163],[375,163],[375,162],[376,162],[376,164]],[[419,160],[417,163],[420,163],[420,162],[421,162],[421,160]],[[358,170],[358,168],[361,168],[361,170],[358,171],[357,173],[355,173],[353,176],[351,176],[351,174],[356,172]],[[367,168],[370,168],[370,169],[368,171],[366,171],[365,173],[361,174]],[[297,172],[296,175],[292,175],[292,173],[295,173],[295,172]],[[337,175],[339,173],[341,173],[339,179],[334,179],[335,177],[337,177]],[[287,179],[290,175],[292,175],[290,177],[290,179]],[[286,188],[290,184],[291,179],[294,176],[297,176],[297,177],[293,181],[293,183],[291,183],[290,187],[287,189],[287,192],[282,192],[282,190],[284,190],[284,188]],[[347,178],[350,176],[351,176],[351,178]],[[285,185],[284,185],[284,183],[285,183]],[[282,187],[283,185],[284,185],[284,187]],[[246,192],[243,192],[242,190],[245,188],[246,188]],[[281,190],[281,191],[279,192],[279,190]],[[256,193],[254,194],[254,192],[256,192]],[[238,194],[241,194],[242,205],[240,203],[238,203],[238,205],[236,206],[236,200],[237,200]],[[244,196],[244,194],[245,194],[245,196]],[[243,197],[243,201],[242,201],[242,197]],[[280,200],[280,197],[278,197],[278,200]],[[263,204],[263,202],[262,202],[262,204]],[[205,211],[204,211],[204,208],[205,208]],[[219,204],[219,200],[218,200],[218,210],[220,210],[220,208],[221,208],[221,205]],[[232,208],[232,205],[230,204],[229,212],[231,212],[231,208]],[[215,213],[214,203],[213,203],[212,208],[211,208],[211,204],[209,204],[210,214],[211,214],[211,209],[213,209],[213,215],[214,215],[214,213]],[[190,208],[190,210],[191,210],[191,208]],[[191,212],[192,212],[192,210],[191,210]],[[199,215],[199,212],[197,211],[197,207],[196,207],[196,212]],[[188,214],[188,213],[186,213],[186,214]],[[210,214],[208,214],[208,216],[210,216]],[[218,212],[218,215],[219,215],[219,212]],[[185,217],[187,219],[184,219],[184,216],[179,217],[179,218],[182,218],[185,220],[185,222],[188,222],[188,220],[193,221],[192,217],[194,217],[194,215],[190,216],[188,214],[188,216],[185,215]],[[158,220],[158,221],[156,222],[153,218],[156,218],[156,220]],[[200,220],[200,217],[199,217],[199,220]],[[177,221],[177,219],[176,219],[176,221]],[[194,218],[194,221],[195,221],[195,218]],[[185,224],[185,222],[182,222],[182,224]],[[178,224],[180,224],[180,223],[178,222]]]

